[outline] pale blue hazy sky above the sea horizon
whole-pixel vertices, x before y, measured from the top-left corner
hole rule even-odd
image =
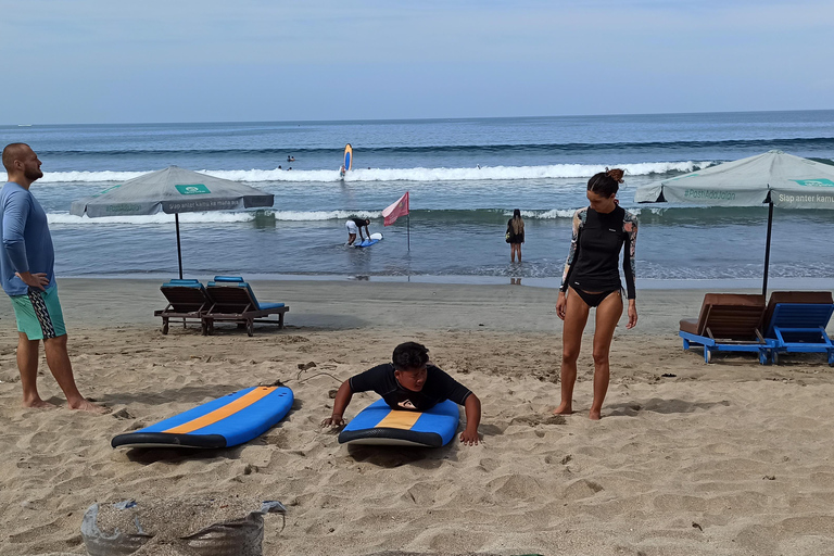
[[[0,7],[0,125],[834,108],[831,0]]]

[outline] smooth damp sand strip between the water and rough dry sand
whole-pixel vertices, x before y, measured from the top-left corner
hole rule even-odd
[[[207,279],[203,278],[202,281],[206,282]],[[291,330],[561,333],[561,321],[555,312],[558,294],[555,288],[508,283],[247,279],[258,301],[289,305],[286,325]],[[58,283],[71,334],[75,328],[161,326],[162,320],[154,317],[153,312],[166,305],[160,292],[162,280],[144,277],[59,278]],[[717,289],[712,288],[639,289],[637,326],[626,331],[623,317],[617,329],[618,336],[678,339],[679,320],[697,317],[704,294],[715,291]],[[734,288],[718,291],[759,293],[761,290]],[[0,325],[3,321],[11,323],[10,327],[14,326],[11,303],[0,303]],[[591,318],[586,332],[593,331],[593,326]],[[834,332],[834,319],[829,330]]]

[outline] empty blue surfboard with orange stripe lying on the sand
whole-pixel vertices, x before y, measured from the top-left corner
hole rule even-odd
[[[143,429],[113,438],[113,447],[218,448],[249,442],[292,407],[287,387],[252,387],[204,403]]]

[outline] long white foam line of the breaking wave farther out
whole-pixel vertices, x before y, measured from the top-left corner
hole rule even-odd
[[[615,165],[626,170],[626,176],[686,173],[711,166],[712,162],[646,162]],[[553,164],[547,166],[481,166],[480,168],[370,168],[352,169],[344,178],[353,181],[476,181],[523,180],[553,178],[586,178],[605,170],[597,164]],[[150,170],[149,170],[150,172]],[[199,170],[202,174],[235,181],[288,181],[307,182],[341,181],[338,169],[287,170],[287,169],[231,169]],[[45,174],[41,182],[97,182],[127,181],[144,172],[52,172]]]

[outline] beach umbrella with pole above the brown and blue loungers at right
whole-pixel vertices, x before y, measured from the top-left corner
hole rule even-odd
[[[764,279],[768,291],[773,207],[834,210],[834,166],[769,151],[637,187],[637,203],[684,203],[702,206],[768,205]]]

